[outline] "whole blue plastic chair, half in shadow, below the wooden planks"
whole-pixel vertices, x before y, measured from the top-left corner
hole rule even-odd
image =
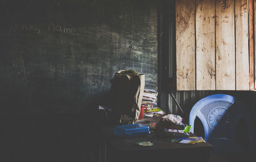
[[[239,99],[227,94],[200,99],[189,114],[192,133],[196,117],[204,126],[204,140],[218,148],[216,152],[255,152],[252,117]]]

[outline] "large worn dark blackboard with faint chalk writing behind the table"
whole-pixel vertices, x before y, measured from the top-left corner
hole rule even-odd
[[[0,112],[79,112],[118,70],[157,87],[157,2],[0,3]]]

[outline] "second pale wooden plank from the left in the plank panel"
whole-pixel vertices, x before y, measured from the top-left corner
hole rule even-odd
[[[196,0],[196,90],[215,90],[215,8]]]

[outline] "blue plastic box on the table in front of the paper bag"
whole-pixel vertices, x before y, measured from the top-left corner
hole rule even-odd
[[[143,124],[127,124],[114,127],[114,135],[121,137],[148,135],[149,127]]]

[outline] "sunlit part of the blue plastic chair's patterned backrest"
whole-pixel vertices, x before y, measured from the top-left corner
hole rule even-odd
[[[198,117],[204,126],[204,139],[207,141],[218,122],[234,103],[234,97],[227,94],[212,94],[200,99],[191,109],[189,125],[194,133],[195,119]]]

